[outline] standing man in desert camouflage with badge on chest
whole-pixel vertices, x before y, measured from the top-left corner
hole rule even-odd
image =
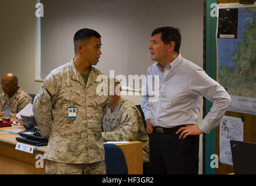
[[[100,34],[83,28],[74,37],[75,58],[52,70],[34,99],[41,135],[48,138],[43,158],[47,174],[106,174],[101,137],[102,110],[108,95],[96,92],[101,71]],[[76,119],[68,108],[76,107]]]

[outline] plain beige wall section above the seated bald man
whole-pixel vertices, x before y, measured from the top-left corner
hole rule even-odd
[[[36,94],[42,84],[34,81],[34,6],[33,0],[0,1],[0,77],[15,73],[19,86],[29,94]]]

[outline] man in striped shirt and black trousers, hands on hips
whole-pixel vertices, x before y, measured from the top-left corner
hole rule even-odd
[[[180,44],[178,28],[152,32],[149,49],[157,63],[148,69],[141,105],[153,174],[198,174],[199,135],[219,125],[231,102],[218,82],[181,56]],[[197,126],[202,96],[213,106]]]

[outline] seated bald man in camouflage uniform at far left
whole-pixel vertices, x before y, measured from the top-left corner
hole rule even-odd
[[[15,118],[16,114],[27,104],[33,103],[31,96],[18,86],[18,79],[15,74],[5,74],[1,84],[3,93],[0,95],[0,117],[3,116],[5,105],[10,108],[10,118]]]

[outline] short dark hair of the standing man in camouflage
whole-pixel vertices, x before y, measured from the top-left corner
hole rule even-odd
[[[97,31],[89,28],[82,28],[78,30],[73,38],[75,53],[78,51],[78,45],[81,42],[90,40],[92,37],[101,38],[101,35]]]

